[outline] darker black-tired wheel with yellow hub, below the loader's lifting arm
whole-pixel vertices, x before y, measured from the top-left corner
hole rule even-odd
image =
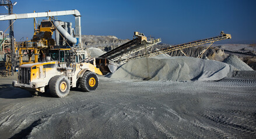
[[[96,90],[99,85],[98,76],[91,71],[86,71],[80,78],[80,87],[84,92]]]

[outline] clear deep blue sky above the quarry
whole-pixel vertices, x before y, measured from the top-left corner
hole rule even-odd
[[[12,1],[15,2],[15,1]],[[163,43],[178,44],[219,35],[232,34],[232,39],[219,43],[256,43],[256,1],[251,0],[119,0],[58,1],[17,0],[13,13],[32,13],[77,9],[82,17],[83,35],[114,35],[132,39],[134,31],[162,38]],[[7,13],[3,6],[0,13]],[[73,16],[58,20],[74,22]],[[0,30],[8,21],[0,21]],[[14,23],[16,41],[32,38],[33,19]],[[8,31],[6,31],[8,32]]]

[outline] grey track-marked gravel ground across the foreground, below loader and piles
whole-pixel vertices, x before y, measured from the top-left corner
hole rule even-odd
[[[0,138],[256,138],[256,80],[118,81],[31,97],[0,82]]]

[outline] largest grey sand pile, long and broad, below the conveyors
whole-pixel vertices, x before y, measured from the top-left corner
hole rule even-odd
[[[144,57],[129,61],[108,76],[149,81],[218,81],[232,74],[233,67],[219,61],[194,57]]]

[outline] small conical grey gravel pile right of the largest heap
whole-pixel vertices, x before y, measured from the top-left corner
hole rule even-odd
[[[244,61],[240,60],[239,57],[236,55],[231,54],[229,57],[225,58],[223,63],[227,63],[232,65],[233,67],[241,70],[241,71],[253,71],[253,68],[251,68],[249,65],[244,63]]]

